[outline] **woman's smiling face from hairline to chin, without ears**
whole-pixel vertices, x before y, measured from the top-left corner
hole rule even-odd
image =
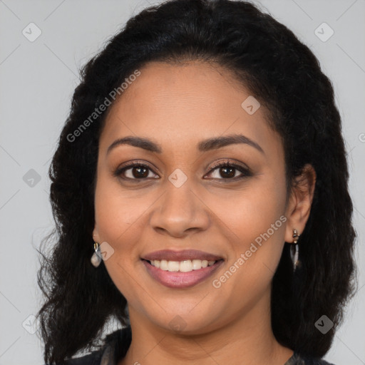
[[[269,312],[293,227],[281,140],[249,97],[218,66],[149,63],[111,108],[94,240],[131,323],[197,334]]]

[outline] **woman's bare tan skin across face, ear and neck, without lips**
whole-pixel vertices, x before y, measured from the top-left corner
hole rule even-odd
[[[252,115],[241,107],[250,91],[229,71],[198,61],[153,62],[140,71],[108,112],[95,192],[93,238],[113,247],[104,264],[128,301],[133,333],[118,365],[283,365],[293,351],[272,333],[271,282],[284,242],[293,242],[293,230],[302,233],[309,217],[314,170],[308,166],[301,190],[287,192],[279,135],[269,128],[263,106]],[[232,133],[254,140],[264,153],[242,143],[197,150],[201,140]],[[150,138],[163,152],[125,144],[107,153],[127,135]],[[252,175],[234,181],[227,178],[230,171],[212,170],[227,159]],[[150,165],[140,173],[144,180],[133,168],[113,175],[128,161]],[[175,169],[187,178],[181,187],[168,180]],[[221,287],[213,287],[212,280],[283,215],[286,222]],[[225,262],[204,282],[172,289],[150,277],[140,260],[163,249],[202,250]],[[180,331],[170,327],[176,316],[185,326]]]

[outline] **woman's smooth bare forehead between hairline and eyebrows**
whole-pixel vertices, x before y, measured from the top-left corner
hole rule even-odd
[[[148,63],[111,107],[101,148],[124,135],[153,138],[171,150],[241,133],[277,149],[279,138],[269,128],[266,110],[260,106],[250,115],[242,108],[249,97],[250,91],[220,66]]]

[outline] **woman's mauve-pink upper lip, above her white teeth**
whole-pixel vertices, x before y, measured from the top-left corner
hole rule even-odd
[[[144,255],[142,259],[147,259],[148,261],[157,259],[162,260],[165,259],[167,261],[184,261],[187,259],[206,259],[207,261],[217,261],[222,259],[217,255],[213,255],[209,252],[203,252],[200,250],[181,250],[181,251],[173,251],[173,250],[160,250],[150,252],[147,255]]]

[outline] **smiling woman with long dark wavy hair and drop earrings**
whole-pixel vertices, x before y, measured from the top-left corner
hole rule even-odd
[[[82,77],[50,168],[46,364],[327,364],[356,235],[312,51],[246,1],[173,0]]]

